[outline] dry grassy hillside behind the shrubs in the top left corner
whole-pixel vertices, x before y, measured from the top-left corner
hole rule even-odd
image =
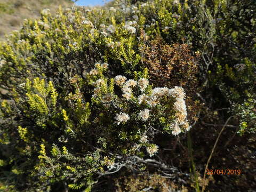
[[[37,18],[42,9],[50,9],[52,13],[58,9],[73,5],[71,0],[0,0],[0,40],[5,34],[21,27],[26,18]]]

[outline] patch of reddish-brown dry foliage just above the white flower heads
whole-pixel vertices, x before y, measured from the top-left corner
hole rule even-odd
[[[140,38],[143,65],[149,69],[150,81],[156,86],[181,86],[187,94],[186,103],[189,111],[189,121],[197,121],[200,106],[195,100],[198,90],[199,53],[193,53],[187,44],[168,45],[161,37],[148,41],[144,31]]]

